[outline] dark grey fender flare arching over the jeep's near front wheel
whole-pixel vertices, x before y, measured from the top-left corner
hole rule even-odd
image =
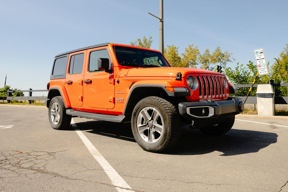
[[[161,85],[161,84],[137,84],[137,85],[134,85],[131,88],[131,91],[129,92],[129,95],[127,97],[126,104],[125,104],[125,107],[124,107],[123,114],[125,114],[126,107],[127,107],[127,104],[128,104],[128,101],[130,99],[130,96],[131,96],[132,92],[134,91],[134,89],[139,88],[139,87],[147,87],[147,88],[149,88],[149,87],[157,87],[157,88],[162,88],[164,91],[166,91],[168,96],[183,96],[183,97],[190,96],[190,91],[189,91],[189,89],[187,87],[173,87],[174,91],[168,91],[166,89],[167,86]]]

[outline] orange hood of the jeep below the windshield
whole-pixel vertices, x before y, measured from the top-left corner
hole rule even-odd
[[[209,73],[223,75],[214,71],[197,68],[186,68],[186,67],[149,67],[149,68],[138,68],[130,69],[127,73],[127,77],[176,77],[176,74],[182,73],[184,77],[188,73]]]

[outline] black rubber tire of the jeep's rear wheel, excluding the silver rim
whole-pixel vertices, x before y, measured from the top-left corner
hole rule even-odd
[[[56,124],[53,123],[52,118],[51,118],[51,108],[53,107],[54,103],[58,104],[59,115],[60,115],[59,121]],[[49,116],[49,122],[50,122],[51,127],[57,130],[67,129],[71,123],[71,118],[72,118],[71,115],[66,114],[66,109],[65,109],[64,102],[61,96],[53,97],[52,100],[50,101],[48,116]]]

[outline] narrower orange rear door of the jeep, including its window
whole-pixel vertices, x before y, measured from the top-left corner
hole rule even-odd
[[[85,52],[82,51],[70,54],[68,74],[65,79],[65,88],[72,106],[81,107],[83,104],[83,63]]]

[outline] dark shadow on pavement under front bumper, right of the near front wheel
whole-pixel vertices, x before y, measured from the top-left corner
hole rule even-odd
[[[223,152],[220,156],[255,153],[277,142],[275,133],[231,129],[221,136],[208,136],[199,130],[182,127],[177,146],[167,152],[170,155],[201,155],[214,151]]]

